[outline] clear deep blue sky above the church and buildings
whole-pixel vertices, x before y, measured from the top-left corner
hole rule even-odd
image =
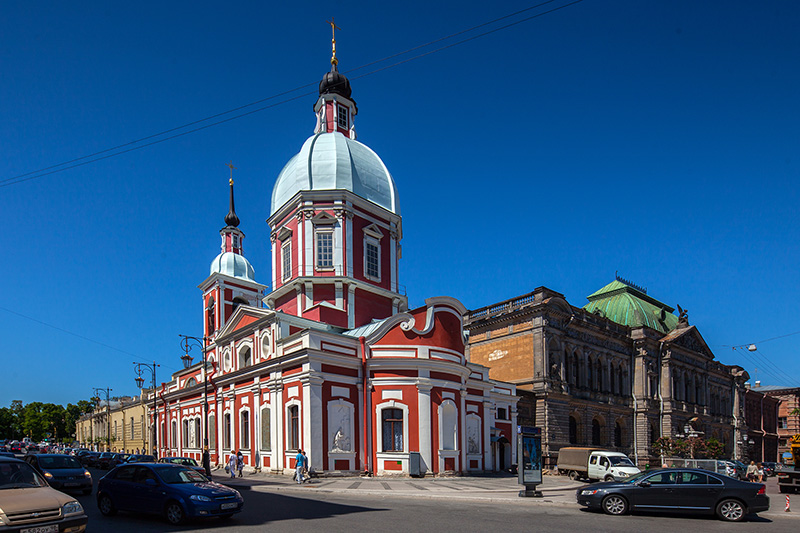
[[[534,3],[5,1],[0,180],[316,84],[331,16],[348,71]],[[619,271],[687,308],[722,362],[800,385],[800,335],[729,347],[800,331],[798,27],[795,2],[585,0],[350,74],[359,140],[399,188],[410,305],[545,285],[582,306]],[[134,394],[133,360],[180,368],[229,160],[269,283],[270,194],[314,102],[0,187],[0,405]]]

